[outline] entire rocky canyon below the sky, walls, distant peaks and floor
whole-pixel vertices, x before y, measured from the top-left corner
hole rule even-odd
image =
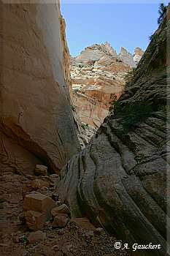
[[[144,53],[106,42],[72,59],[51,2],[0,2],[0,254],[168,256],[170,5]]]

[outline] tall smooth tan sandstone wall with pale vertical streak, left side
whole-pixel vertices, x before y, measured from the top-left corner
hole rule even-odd
[[[55,1],[1,10],[1,168],[31,173],[45,163],[58,172],[80,147],[63,18]]]

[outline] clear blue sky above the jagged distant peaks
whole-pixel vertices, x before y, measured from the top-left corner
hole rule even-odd
[[[121,46],[132,54],[136,47],[146,50],[148,37],[158,28],[160,2],[61,0],[70,54],[78,56],[87,46],[106,41],[117,53]]]

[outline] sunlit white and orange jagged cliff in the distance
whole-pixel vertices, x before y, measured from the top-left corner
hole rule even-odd
[[[139,49],[134,55],[136,62],[123,48],[118,56],[107,42],[85,48],[74,59],[70,57],[73,105],[81,121],[93,127],[102,124],[109,113],[110,94],[120,97],[125,75],[136,67],[144,53],[140,48],[136,49]]]

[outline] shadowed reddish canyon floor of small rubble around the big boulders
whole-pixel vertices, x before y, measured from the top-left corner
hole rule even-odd
[[[20,221],[19,215],[23,211],[23,187],[34,179],[37,180],[37,177],[18,176],[12,173],[6,173],[0,178],[0,255],[129,255],[125,249],[115,249],[117,239],[108,236],[104,230],[96,234],[96,227],[87,217],[72,218],[63,228],[54,228],[48,221],[41,230],[46,234],[45,240],[28,243],[28,236],[34,232],[28,230],[26,224]],[[40,176],[38,179],[45,181],[45,177]],[[50,186],[45,190],[46,195],[53,195],[55,192],[53,184]]]

